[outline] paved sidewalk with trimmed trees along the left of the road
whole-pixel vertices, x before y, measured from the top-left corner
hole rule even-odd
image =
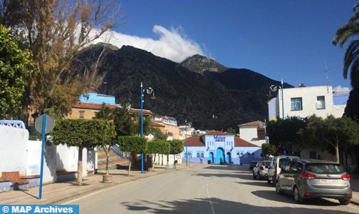
[[[197,164],[192,163],[190,167],[195,165]],[[183,168],[186,168],[186,165],[182,163],[182,165],[177,165],[175,170]],[[173,170],[173,165],[170,165],[169,172]],[[110,170],[110,174],[113,175],[113,183],[103,183],[103,173],[105,171],[99,171],[96,175],[83,178],[83,185],[81,186],[76,185],[76,180],[43,185],[41,200],[38,200],[38,186],[24,190],[3,192],[0,193],[0,204],[61,204],[65,200],[70,200],[95,190],[110,188],[132,180],[139,180],[167,172],[165,171],[165,165],[156,165],[154,171],[145,172],[144,174],[137,170],[131,170],[130,176],[128,176],[128,170]]]

